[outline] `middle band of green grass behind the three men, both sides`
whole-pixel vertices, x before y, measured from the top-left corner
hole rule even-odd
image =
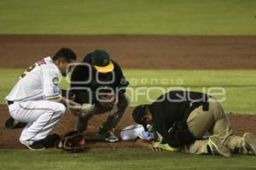
[[[0,104],[4,104],[4,96],[9,94],[17,77],[20,76],[20,69],[0,69]],[[125,77],[130,82],[127,94],[131,97],[131,105],[149,103],[168,89],[188,89],[200,92],[207,92],[218,99],[224,98],[225,111],[236,113],[256,113],[256,71],[139,71],[125,70]],[[66,79],[62,80],[62,88],[68,88]],[[148,90],[158,87],[160,89]],[[224,95],[220,89],[224,90]],[[212,90],[210,90],[213,88]],[[147,92],[148,90],[148,92]],[[215,94],[214,94],[215,93]],[[137,98],[135,95],[137,94]],[[146,95],[148,94],[148,99]]]

